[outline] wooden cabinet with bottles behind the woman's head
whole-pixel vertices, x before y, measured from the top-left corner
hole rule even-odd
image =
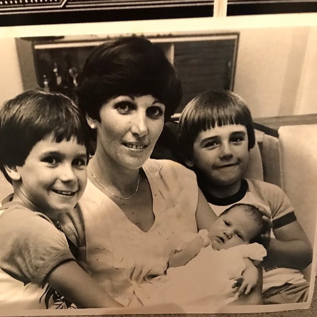
[[[162,48],[179,73],[184,96],[176,112],[181,112],[191,98],[203,91],[233,89],[239,33],[142,35]],[[109,38],[106,35],[17,38],[24,89],[48,86],[50,90],[58,88],[73,96],[76,73],[81,71],[94,47]]]

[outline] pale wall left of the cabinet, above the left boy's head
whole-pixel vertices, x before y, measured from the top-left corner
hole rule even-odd
[[[23,91],[14,38],[0,38],[0,105]]]

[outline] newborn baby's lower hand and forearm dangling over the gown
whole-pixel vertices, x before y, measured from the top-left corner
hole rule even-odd
[[[237,293],[239,295],[243,292],[248,295],[258,279],[258,271],[253,262],[249,258],[245,258],[245,262],[246,268],[242,272],[242,276],[235,279],[237,282],[232,286],[232,288],[238,287]]]

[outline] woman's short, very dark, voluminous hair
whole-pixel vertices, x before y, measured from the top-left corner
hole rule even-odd
[[[100,121],[101,106],[119,95],[153,95],[165,105],[165,120],[174,114],[183,91],[174,66],[145,37],[112,39],[87,58],[78,78],[78,105]]]

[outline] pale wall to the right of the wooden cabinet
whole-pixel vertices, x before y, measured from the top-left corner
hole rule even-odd
[[[253,116],[316,113],[317,28],[239,31],[234,90]]]

